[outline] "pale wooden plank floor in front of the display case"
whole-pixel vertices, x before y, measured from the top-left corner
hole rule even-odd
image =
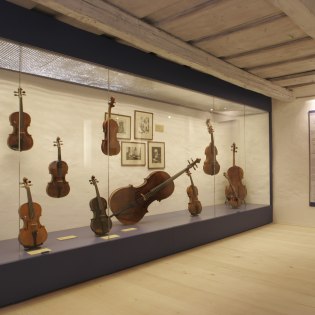
[[[0,314],[314,315],[315,228],[270,224]]]

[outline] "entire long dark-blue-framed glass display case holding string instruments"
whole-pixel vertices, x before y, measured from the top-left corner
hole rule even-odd
[[[0,306],[272,221],[269,98],[0,7]]]

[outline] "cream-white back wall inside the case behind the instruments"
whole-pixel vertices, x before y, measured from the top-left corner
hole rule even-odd
[[[14,97],[13,91],[17,90],[19,80],[26,91],[24,111],[32,118],[28,132],[34,140],[32,149],[24,152],[13,151],[6,143],[12,132],[9,116],[18,111],[18,98]],[[173,176],[185,168],[191,158],[201,158],[199,168],[192,171],[192,176],[204,207],[225,201],[227,181],[222,174],[232,166],[230,147],[233,142],[239,147],[236,164],[244,170],[247,203],[269,204],[267,113],[246,115],[244,106],[243,116],[210,115],[210,112],[5,70],[0,70],[0,84],[0,219],[4,222],[0,239],[17,237],[21,224],[18,209],[27,201],[25,189],[19,188],[23,177],[32,181],[33,201],[42,206],[40,221],[49,232],[89,225],[92,217],[89,201],[95,197],[94,186],[89,183],[92,175],[99,180],[100,193],[108,200],[115,189],[129,184],[142,185],[144,178],[153,171],[148,169],[147,163],[146,166],[121,166],[120,155],[108,157],[102,153],[102,124],[110,96],[116,99],[113,113],[131,116],[130,141],[144,142],[147,146],[147,141],[133,138],[135,110],[152,112],[153,128],[164,126],[163,132],[154,131],[153,141],[165,142],[164,171],[168,174]],[[220,173],[215,177],[202,170],[204,150],[210,143],[205,121],[210,116],[218,149],[217,160],[221,165]],[[66,180],[71,190],[63,198],[51,198],[46,194],[51,179],[48,166],[57,160],[57,150],[53,146],[57,136],[64,143],[62,160],[69,166]],[[161,202],[152,203],[146,216],[187,209],[186,188],[189,185],[189,177],[185,174],[177,178],[174,193]]]

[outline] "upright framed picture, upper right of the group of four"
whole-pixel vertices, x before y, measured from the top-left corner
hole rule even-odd
[[[135,110],[135,139],[153,140],[153,113]]]

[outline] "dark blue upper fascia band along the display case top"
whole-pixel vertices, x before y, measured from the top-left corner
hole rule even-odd
[[[0,37],[115,70],[271,111],[271,98],[1,1]]]

